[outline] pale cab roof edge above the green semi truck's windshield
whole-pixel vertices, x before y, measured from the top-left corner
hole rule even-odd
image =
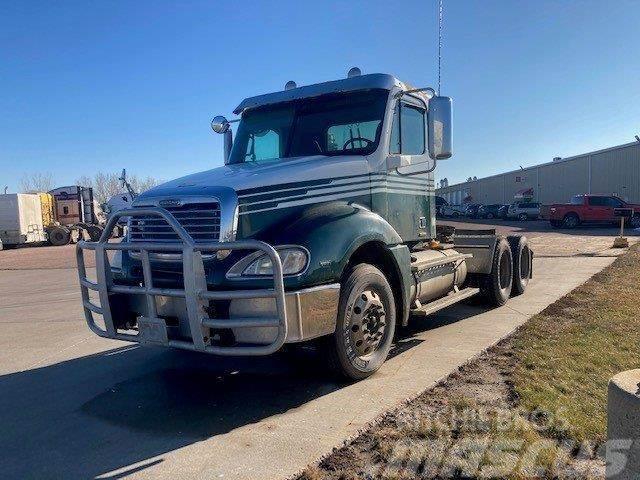
[[[302,87],[292,88],[290,90],[282,90],[280,92],[266,93],[255,97],[245,98],[240,105],[233,111],[236,115],[241,114],[244,110],[266,105],[275,105],[277,103],[290,102],[292,100],[300,100],[303,98],[319,97],[329,93],[345,93],[358,90],[392,90],[394,87],[403,90],[409,90],[411,87],[401,82],[393,75],[386,73],[370,73],[367,75],[359,75],[356,77],[343,78],[341,80],[332,80],[330,82],[315,83],[313,85],[305,85]]]

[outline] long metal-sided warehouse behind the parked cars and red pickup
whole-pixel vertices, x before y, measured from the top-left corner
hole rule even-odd
[[[452,205],[509,204],[521,198],[566,203],[581,193],[613,194],[640,203],[640,141],[436,190]]]

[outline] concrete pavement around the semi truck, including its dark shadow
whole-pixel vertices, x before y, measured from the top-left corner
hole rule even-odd
[[[3,478],[295,474],[620,253],[610,249],[615,229],[497,228],[534,245],[527,293],[497,310],[472,302],[414,321],[381,371],[351,385],[328,378],[313,352],[217,358],[95,337],[82,318],[72,247],[0,252]]]

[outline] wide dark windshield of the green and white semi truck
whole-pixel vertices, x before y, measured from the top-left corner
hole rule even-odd
[[[387,90],[324,95],[242,115],[229,163],[366,155],[380,141]]]

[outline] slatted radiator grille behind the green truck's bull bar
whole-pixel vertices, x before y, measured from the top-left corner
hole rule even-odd
[[[196,242],[220,239],[220,205],[217,202],[188,203],[166,207]],[[179,242],[180,237],[158,216],[133,216],[129,221],[132,242]]]

